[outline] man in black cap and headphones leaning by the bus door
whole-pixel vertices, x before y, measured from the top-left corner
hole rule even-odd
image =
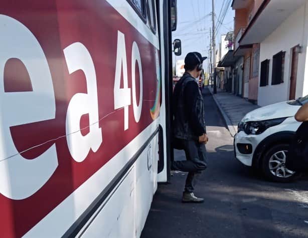
[[[173,146],[184,149],[186,160],[172,161],[171,169],[188,172],[183,202],[204,202],[194,194],[195,182],[206,169],[206,148],[208,142],[204,118],[203,96],[198,81],[202,63],[207,57],[198,52],[185,57],[185,73],[176,84],[173,94]]]

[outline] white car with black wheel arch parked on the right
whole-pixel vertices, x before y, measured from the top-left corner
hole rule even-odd
[[[285,167],[292,136],[300,123],[294,118],[308,95],[297,100],[272,104],[249,112],[239,123],[234,137],[236,158],[261,170],[273,181],[288,182],[296,173]]]

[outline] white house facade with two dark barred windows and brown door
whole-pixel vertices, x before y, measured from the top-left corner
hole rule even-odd
[[[297,3],[295,3],[297,2]],[[270,4],[270,3],[269,3]],[[294,6],[295,5],[295,6]],[[279,4],[280,12],[286,9]],[[299,8],[297,8],[299,6]],[[266,8],[273,8],[268,5]],[[260,83],[258,104],[268,104],[292,100],[308,94],[305,72],[308,34],[308,4],[306,1],[294,1],[289,14],[260,42]],[[271,11],[261,18],[269,18]]]

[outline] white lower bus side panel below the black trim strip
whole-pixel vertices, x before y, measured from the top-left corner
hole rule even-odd
[[[87,238],[139,237],[157,189],[157,161],[158,135],[79,235]]]

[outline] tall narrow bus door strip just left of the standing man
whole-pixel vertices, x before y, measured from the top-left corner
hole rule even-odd
[[[172,141],[172,31],[177,29],[177,1],[156,0],[160,6],[158,12],[158,28],[161,49],[162,102],[160,112],[160,140],[158,182],[169,182],[170,160],[173,158]],[[168,24],[166,24],[168,23]],[[181,42],[178,45],[181,55]],[[175,48],[174,48],[175,49]],[[174,51],[175,52],[175,51]],[[176,53],[175,53],[176,54]]]

